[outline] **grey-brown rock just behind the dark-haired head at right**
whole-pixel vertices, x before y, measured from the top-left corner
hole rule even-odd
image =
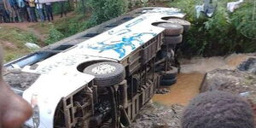
[[[207,73],[201,92],[224,90],[243,96],[256,104],[256,76],[238,70],[215,69]]]

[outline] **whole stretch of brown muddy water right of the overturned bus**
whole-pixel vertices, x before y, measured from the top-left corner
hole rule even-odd
[[[167,94],[156,94],[153,102],[165,106],[172,104],[186,105],[198,95],[201,82],[205,73],[217,68],[236,69],[253,54],[232,54],[226,57],[216,56],[210,58],[193,58],[191,60],[181,60],[181,73],[177,76],[177,83],[167,87],[170,91]]]

